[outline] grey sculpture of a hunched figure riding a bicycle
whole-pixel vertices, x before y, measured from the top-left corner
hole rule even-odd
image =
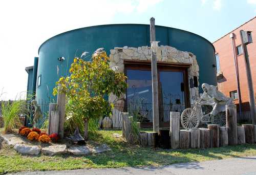
[[[234,104],[233,100],[217,90],[217,86],[202,84],[204,91],[193,108],[186,108],[181,114],[181,125],[185,129],[197,128],[201,123],[226,125],[226,104]],[[212,110],[209,110],[212,108]]]

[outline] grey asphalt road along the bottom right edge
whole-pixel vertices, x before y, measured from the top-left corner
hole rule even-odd
[[[256,175],[256,156],[233,158],[225,160],[214,160],[194,163],[180,163],[158,168],[138,167],[138,168],[116,168],[116,169],[79,169],[67,171],[35,171],[35,172],[19,172],[15,174],[26,175],[82,175],[82,174],[104,174],[104,175],[131,175],[131,174],[160,174],[160,175]]]

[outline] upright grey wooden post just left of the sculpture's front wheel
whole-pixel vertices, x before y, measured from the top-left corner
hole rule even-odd
[[[180,144],[180,113],[170,112],[170,146],[177,149]]]

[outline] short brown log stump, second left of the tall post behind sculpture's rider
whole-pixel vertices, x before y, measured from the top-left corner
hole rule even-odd
[[[219,147],[220,145],[220,127],[218,124],[208,124],[210,133],[210,147]]]

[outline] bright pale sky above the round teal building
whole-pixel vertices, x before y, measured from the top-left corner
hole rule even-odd
[[[1,0],[0,100],[24,97],[38,48],[69,30],[104,24],[149,24],[196,33],[213,42],[256,15],[256,0]],[[2,95],[1,95],[2,94]]]

